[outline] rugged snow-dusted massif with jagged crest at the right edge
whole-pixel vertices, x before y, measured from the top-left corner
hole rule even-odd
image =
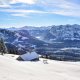
[[[55,40],[80,40],[80,25],[53,26],[50,33]]]

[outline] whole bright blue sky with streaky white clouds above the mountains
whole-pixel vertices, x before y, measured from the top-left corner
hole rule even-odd
[[[0,27],[80,24],[80,0],[0,0]]]

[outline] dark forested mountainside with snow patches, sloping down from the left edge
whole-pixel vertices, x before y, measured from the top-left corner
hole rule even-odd
[[[8,49],[13,49],[13,47],[16,47],[19,54],[25,53],[27,49],[31,48],[32,46],[39,47],[45,44],[45,42],[32,37],[27,30],[10,31],[0,29],[0,35],[6,42]]]

